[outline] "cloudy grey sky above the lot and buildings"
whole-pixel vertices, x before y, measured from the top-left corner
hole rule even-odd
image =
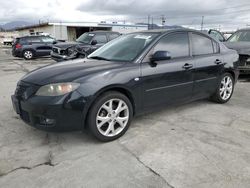
[[[1,0],[0,23],[118,21],[230,30],[250,24],[249,0]],[[152,19],[150,19],[152,22]]]

